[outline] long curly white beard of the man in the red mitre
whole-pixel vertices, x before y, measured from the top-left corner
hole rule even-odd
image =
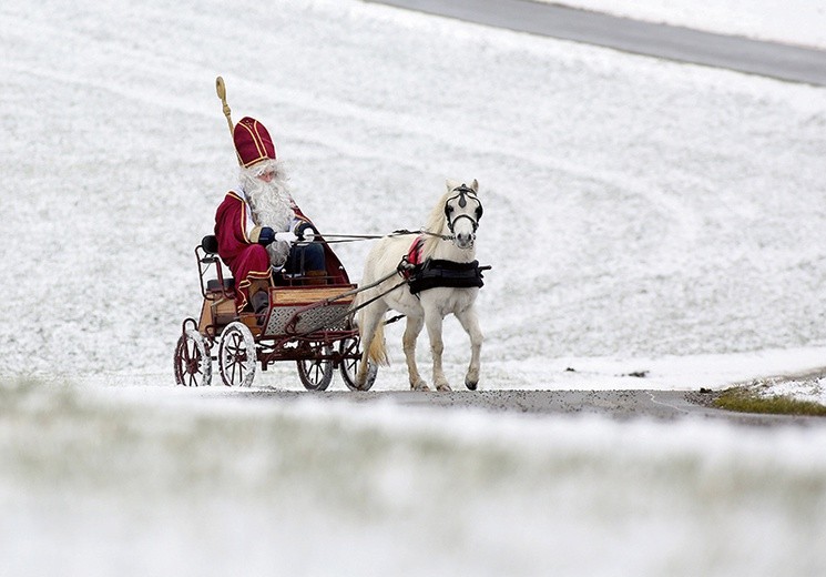
[[[289,230],[293,222],[293,198],[287,189],[283,169],[276,170],[275,178],[269,182],[255,176],[258,171],[242,169],[241,185],[249,202],[253,222],[258,226],[269,226],[275,232]],[[281,269],[287,262],[289,255],[289,243],[275,241],[267,246],[269,263],[275,269]]]

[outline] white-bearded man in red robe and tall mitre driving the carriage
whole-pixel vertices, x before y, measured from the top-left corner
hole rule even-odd
[[[327,244],[314,242],[323,240],[293,200],[267,129],[246,117],[235,125],[233,140],[241,182],[215,213],[215,236],[218,255],[235,277],[237,312],[266,311],[274,277],[348,283]]]

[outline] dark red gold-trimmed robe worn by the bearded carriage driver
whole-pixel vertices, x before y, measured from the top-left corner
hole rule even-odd
[[[298,222],[313,224],[293,205]],[[241,312],[249,300],[249,285],[255,280],[269,280],[272,271],[266,249],[249,241],[247,226],[251,224],[247,204],[236,192],[230,191],[215,213],[215,236],[218,240],[218,255],[230,267],[235,279],[235,306]],[[315,226],[314,226],[315,227]],[[323,240],[323,239],[318,239]],[[341,262],[324,244],[325,266],[333,284],[349,284]]]

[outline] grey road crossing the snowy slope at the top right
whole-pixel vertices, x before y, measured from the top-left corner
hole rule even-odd
[[[528,0],[365,0],[636,54],[826,85],[826,51]]]

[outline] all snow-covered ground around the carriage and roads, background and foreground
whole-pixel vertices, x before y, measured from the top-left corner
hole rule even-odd
[[[355,0],[12,1],[0,47],[0,573],[826,570],[819,426],[273,406],[171,366],[234,182],[222,74],[324,231],[419,226],[479,179],[483,388],[822,367],[825,89]]]

